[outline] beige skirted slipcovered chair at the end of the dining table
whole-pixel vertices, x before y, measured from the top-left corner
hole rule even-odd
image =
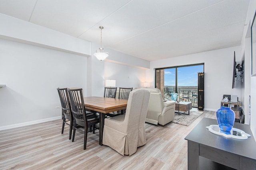
[[[150,92],[145,89],[130,92],[125,115],[105,119],[102,144],[118,153],[132,155],[146,144],[145,119]]]

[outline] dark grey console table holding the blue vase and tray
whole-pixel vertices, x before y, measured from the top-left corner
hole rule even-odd
[[[185,137],[188,141],[188,170],[256,170],[256,142],[249,125],[234,124],[250,134],[246,140],[226,138],[208,131],[216,119],[203,118]]]

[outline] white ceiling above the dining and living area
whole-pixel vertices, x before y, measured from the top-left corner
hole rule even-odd
[[[0,13],[148,61],[241,44],[250,0],[0,0]],[[110,54],[111,55],[111,54]]]

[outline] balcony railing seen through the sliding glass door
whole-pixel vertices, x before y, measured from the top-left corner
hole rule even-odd
[[[177,101],[192,102],[192,107],[198,107],[198,89],[197,88],[177,88]],[[164,100],[172,100],[170,92],[164,88]]]

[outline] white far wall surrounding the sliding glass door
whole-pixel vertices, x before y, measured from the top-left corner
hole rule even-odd
[[[234,51],[236,61],[240,61],[240,46],[152,61],[150,70],[146,70],[146,79],[154,86],[154,68],[204,63],[204,109],[216,111],[223,94],[237,95],[239,99],[241,97],[240,82],[236,82],[232,89]]]

